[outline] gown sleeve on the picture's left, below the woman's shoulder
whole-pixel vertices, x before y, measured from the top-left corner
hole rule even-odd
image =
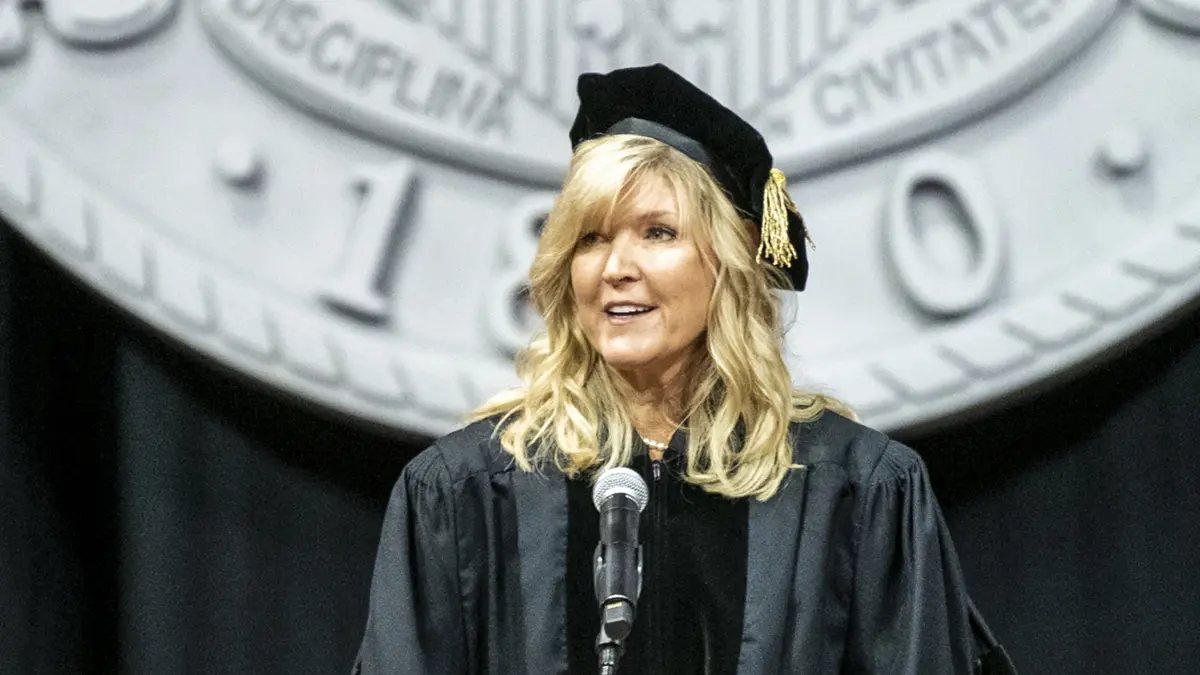
[[[467,673],[452,488],[430,448],[392,489],[353,675]]]

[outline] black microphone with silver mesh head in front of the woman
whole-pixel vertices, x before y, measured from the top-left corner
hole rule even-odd
[[[637,597],[642,592],[637,519],[649,500],[646,480],[631,468],[605,471],[592,489],[592,502],[600,512],[600,543],[592,569],[600,604],[596,652],[604,674],[616,673],[625,638],[634,627]]]

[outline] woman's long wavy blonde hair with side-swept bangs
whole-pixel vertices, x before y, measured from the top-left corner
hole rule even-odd
[[[500,416],[500,442],[524,471],[553,462],[576,477],[630,464],[636,431],[625,383],[576,321],[571,262],[580,235],[622,217],[653,179],[674,191],[680,229],[715,279],[707,348],[683,376],[683,419],[672,420],[686,424],[685,479],[708,492],[767,500],[794,466],[788,423],[827,408],[852,413],[835,399],[792,388],[772,289],[787,286],[786,276],[755,261],[752,227],[708,169],[650,138],[606,136],[576,149],[529,270],[545,330],[517,354],[522,386],[470,419]]]

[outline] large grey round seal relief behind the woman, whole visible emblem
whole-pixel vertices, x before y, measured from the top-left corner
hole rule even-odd
[[[886,430],[1200,297],[1194,0],[0,0],[0,214],[197,353],[439,434],[512,384],[574,80],[664,61],[811,226],[797,384]],[[80,104],[85,102],[85,104]]]

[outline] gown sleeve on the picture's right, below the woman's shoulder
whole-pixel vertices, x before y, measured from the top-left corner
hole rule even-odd
[[[967,596],[920,458],[888,443],[856,508],[850,673],[1015,675]]]

